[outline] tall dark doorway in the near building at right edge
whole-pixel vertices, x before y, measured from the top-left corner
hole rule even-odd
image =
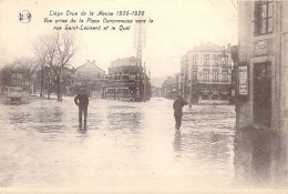
[[[271,126],[271,63],[254,64],[254,123]]]

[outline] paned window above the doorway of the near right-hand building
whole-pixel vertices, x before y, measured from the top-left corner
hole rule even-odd
[[[272,2],[255,2],[255,35],[272,32]]]

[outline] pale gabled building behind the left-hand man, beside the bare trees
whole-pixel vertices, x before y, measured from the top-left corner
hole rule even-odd
[[[105,71],[95,64],[95,60],[88,60],[86,63],[75,70],[76,88],[85,86],[92,96],[101,98],[102,85],[105,83]]]

